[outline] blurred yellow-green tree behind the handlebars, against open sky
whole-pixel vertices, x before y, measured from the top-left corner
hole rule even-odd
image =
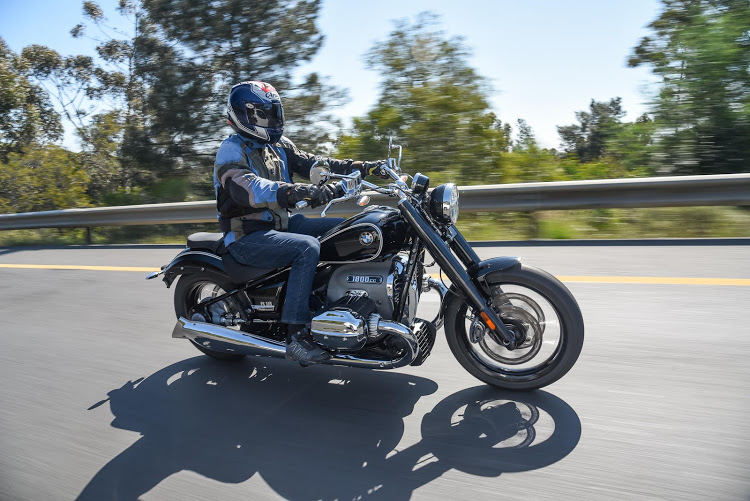
[[[337,144],[339,155],[382,158],[386,138],[403,144],[410,172],[437,180],[501,182],[505,130],[490,112],[484,80],[466,59],[460,38],[435,29],[437,18],[421,14],[415,23],[396,23],[385,42],[367,55],[370,69],[386,75],[380,97],[366,117],[355,119],[351,135]]]

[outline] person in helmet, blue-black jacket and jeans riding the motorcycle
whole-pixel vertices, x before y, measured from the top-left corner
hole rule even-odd
[[[312,341],[309,299],[324,234],[342,219],[289,216],[300,201],[310,207],[327,204],[338,195],[331,186],[293,182],[293,175],[310,177],[317,162],[331,171],[362,177],[383,176],[382,162],[323,158],[300,151],[284,137],[284,110],[276,89],[259,81],[232,87],[227,118],[236,134],[221,143],[214,166],[216,206],[224,244],[237,261],[277,268],[291,265],[281,321],[287,324],[286,358],[318,363],[330,354]]]

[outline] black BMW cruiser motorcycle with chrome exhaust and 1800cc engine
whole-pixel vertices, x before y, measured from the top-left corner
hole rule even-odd
[[[398,150],[398,157],[391,152]],[[320,262],[310,296],[314,341],[331,353],[326,364],[368,369],[422,365],[443,327],[458,362],[479,380],[508,390],[551,384],[575,364],[584,325],[570,291],[555,277],[517,257],[481,260],[456,228],[458,188],[429,189],[427,176],[401,171],[402,148],[388,144],[381,166],[391,182],[379,186],[356,171],[311,169],[314,184],[335,182],[332,205],[357,200],[364,190],[396,199],[396,207],[369,206],[319,237]],[[407,182],[411,177],[411,185]],[[306,203],[297,204],[297,209]],[[425,265],[426,254],[434,260]],[[446,286],[426,270],[433,265]],[[174,338],[186,338],[219,360],[246,355],[285,356],[280,324],[289,267],[245,266],[229,254],[222,233],[195,233],[161,271],[175,280]],[[439,297],[437,315],[417,317],[424,293]]]

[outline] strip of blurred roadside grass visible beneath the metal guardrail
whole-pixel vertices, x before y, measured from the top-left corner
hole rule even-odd
[[[668,207],[577,211],[463,212],[468,240],[750,237],[748,207]],[[91,229],[92,244],[184,244],[187,235],[219,231],[213,223]],[[0,246],[85,245],[83,228],[0,231]]]

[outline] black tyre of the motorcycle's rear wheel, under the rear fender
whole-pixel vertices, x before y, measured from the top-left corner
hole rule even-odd
[[[223,294],[225,291],[234,289],[234,287],[235,285],[229,280],[229,278],[220,273],[203,272],[200,274],[181,275],[174,288],[175,314],[177,315],[177,318],[185,317],[188,320],[192,320],[190,318],[190,309],[200,302],[201,290],[212,291],[219,295]],[[224,353],[209,350],[192,339],[190,342],[203,354],[216,360],[229,362],[245,358],[245,355],[237,353]]]

